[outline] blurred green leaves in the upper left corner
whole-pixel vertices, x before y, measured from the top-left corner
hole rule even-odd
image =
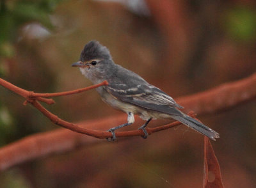
[[[12,43],[17,40],[20,26],[28,22],[52,29],[49,13],[52,13],[61,0],[6,1],[0,3],[0,56],[13,56]]]

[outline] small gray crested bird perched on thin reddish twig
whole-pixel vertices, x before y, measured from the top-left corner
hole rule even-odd
[[[84,46],[79,61],[73,63],[72,67],[79,67],[81,73],[93,84],[108,81],[108,86],[96,89],[102,100],[111,107],[128,114],[127,123],[108,130],[111,132],[113,140],[116,139],[116,129],[134,123],[134,114],[147,120],[139,128],[145,134],[143,138],[148,136],[145,127],[149,121],[163,118],[180,121],[212,140],[219,137],[218,132],[179,111],[177,108],[183,107],[179,106],[172,97],[148,84],[140,75],[116,65],[109,50],[97,41],[90,41]]]

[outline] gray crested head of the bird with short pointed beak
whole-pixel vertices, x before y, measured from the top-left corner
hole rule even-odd
[[[92,40],[84,46],[79,61],[72,67],[79,67],[81,73],[93,83],[99,83],[107,79],[113,72],[115,63],[107,47]]]

